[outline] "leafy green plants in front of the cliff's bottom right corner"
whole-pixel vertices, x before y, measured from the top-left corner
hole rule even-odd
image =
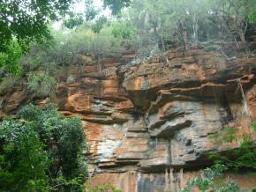
[[[252,129],[256,129],[256,123],[252,122]],[[217,144],[231,143],[237,141],[237,129],[226,128],[216,133],[212,138]],[[219,152],[211,153],[209,158],[215,159],[215,166],[204,169],[200,176],[188,181],[181,192],[192,192],[193,188],[200,191],[214,192],[239,192],[241,189],[234,181],[225,181],[221,186],[216,185],[216,179],[220,178],[225,170],[249,167],[256,169],[256,149],[254,149],[255,138],[251,135],[244,135],[243,141],[238,149],[228,149],[229,157]],[[253,189],[254,190],[254,189]],[[252,191],[253,191],[252,190]]]

